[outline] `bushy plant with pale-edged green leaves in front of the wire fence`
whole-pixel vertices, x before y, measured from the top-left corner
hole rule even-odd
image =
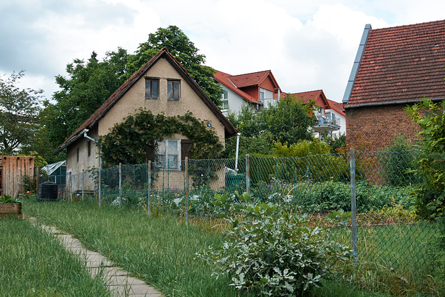
[[[302,296],[332,273],[332,265],[350,258],[350,248],[329,237],[325,228],[310,228],[305,216],[282,212],[277,205],[252,203],[248,194],[239,205],[216,195],[215,205],[227,221],[227,241],[198,253],[218,267],[215,275],[229,273],[236,289],[251,289],[267,296]],[[234,212],[230,209],[236,210]]]

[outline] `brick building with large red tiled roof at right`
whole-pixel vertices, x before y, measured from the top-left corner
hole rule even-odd
[[[369,151],[395,135],[416,137],[419,126],[403,110],[424,97],[445,96],[445,20],[375,29],[364,28],[343,96],[349,145]]]

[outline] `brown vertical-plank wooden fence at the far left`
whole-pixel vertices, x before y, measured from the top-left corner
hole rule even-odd
[[[2,156],[0,161],[0,195],[18,196],[23,193],[22,178],[34,176],[34,158]]]

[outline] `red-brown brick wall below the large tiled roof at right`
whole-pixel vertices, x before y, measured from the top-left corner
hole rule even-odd
[[[418,139],[420,128],[413,124],[403,108],[406,105],[378,105],[362,108],[346,108],[346,142],[356,146],[367,142],[366,151],[380,151],[388,146],[395,135]],[[362,148],[363,150],[363,148]]]

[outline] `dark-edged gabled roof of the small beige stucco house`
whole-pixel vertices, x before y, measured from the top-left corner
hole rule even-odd
[[[207,105],[209,110],[213,112],[213,114],[216,115],[216,117],[220,120],[220,122],[223,124],[225,128],[225,137],[232,137],[236,135],[238,130],[233,126],[232,123],[229,122],[229,120],[224,116],[224,114],[220,111],[220,109],[211,101],[209,96],[204,93],[204,91],[200,88],[199,85],[191,78],[191,76],[187,73],[186,69],[182,67],[179,62],[173,57],[166,48],[161,49],[156,55],[151,58],[143,67],[140,67],[138,71],[136,71],[129,79],[127,79],[119,88],[118,90],[115,90],[113,94],[99,107],[97,110],[91,114],[91,116],[83,122],[83,124],[77,128],[77,130],[72,133],[70,137],[68,137],[63,144],[61,144],[55,153],[58,153],[63,150],[66,146],[71,144],[72,142],[76,141],[80,137],[83,137],[83,130],[86,128],[91,128],[92,126],[95,126],[99,122],[102,117],[105,116],[106,112],[113,108],[116,102],[118,102],[124,94],[127,93],[128,90],[133,87],[133,85],[136,83],[136,81],[143,77],[145,72],[150,69],[159,59],[165,58],[165,60],[168,60],[170,62],[170,65],[172,65],[173,68],[176,69],[176,71],[181,75],[182,78],[188,83],[188,85],[191,86],[191,88],[195,91],[195,93],[202,99],[202,101]]]

